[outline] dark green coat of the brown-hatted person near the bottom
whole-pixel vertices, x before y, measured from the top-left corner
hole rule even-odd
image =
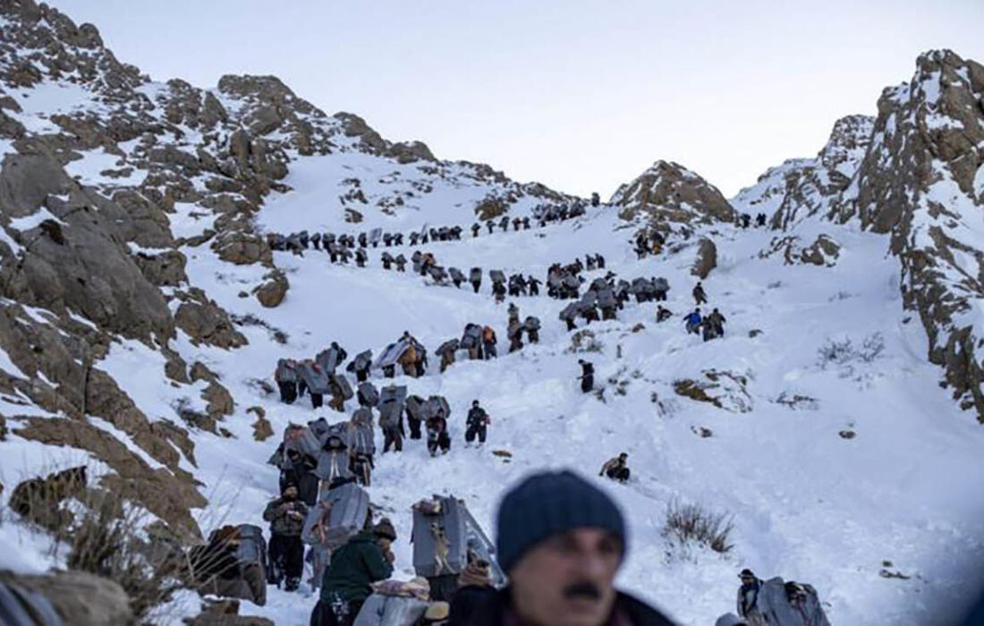
[[[393,575],[393,564],[372,532],[359,532],[332,554],[332,564],[322,579],[321,599],[331,603],[363,601],[372,594],[372,584]]]

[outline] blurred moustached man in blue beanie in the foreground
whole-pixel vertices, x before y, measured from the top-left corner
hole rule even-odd
[[[496,553],[510,584],[477,606],[468,626],[672,625],[615,589],[628,552],[625,521],[578,474],[527,477],[503,498],[497,526]]]

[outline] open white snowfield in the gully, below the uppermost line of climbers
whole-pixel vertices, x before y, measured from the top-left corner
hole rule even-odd
[[[277,224],[270,210],[262,219],[272,230],[298,227],[295,221]],[[769,232],[719,226],[721,267],[705,284],[710,304],[728,318],[727,336],[704,344],[683,333],[680,319],[692,307],[693,248],[639,262],[627,243],[631,231],[615,230],[619,223],[591,212],[587,219],[542,230],[483,232],[474,240],[423,248],[446,267],[541,278],[555,261],[600,252],[607,269],[621,277],[667,277],[668,306],[676,317],[656,325],[654,305],[633,303],[617,322],[590,325],[603,351],[586,357],[596,364],[597,385],[606,387],[604,402],[578,389],[577,358],[584,355],[567,352],[570,334],[556,317],[564,303],[545,296],[516,299],[523,316],[544,322],[541,344],[489,362],[459,361],[444,375],[432,356],[425,377],[393,381],[420,396],[442,394],[453,410],[454,443],[447,457],[430,459],[422,441],[408,442],[401,455],[377,456],[370,492],[400,532],[400,575],[412,574],[407,537],[409,507],[417,499],[431,493],[464,497],[494,532],[499,495],[527,471],[575,467],[590,474],[624,450],[633,481],[598,481],[622,504],[632,528],[620,583],[683,624],[712,623],[731,610],[735,573],[742,567],[813,584],[838,625],[927,623],[940,607],[975,590],[979,574],[973,563],[984,556],[977,484],[984,433],[953,407],[936,384],[938,370],[924,361],[925,338],[917,321],[906,321],[901,311],[897,269],[885,254],[885,239],[837,227],[843,250],[837,267],[785,267],[778,258],[757,257]],[[805,232],[804,238],[811,235]],[[277,470],[266,465],[277,438],[254,442],[246,407],[265,407],[277,435],[290,421],[342,417],[327,407],[314,411],[306,399],[282,406],[251,385],[252,379],[271,380],[277,357],[311,356],[330,341],[351,354],[367,347],[378,352],[403,330],[433,351],[460,336],[466,322],[495,326],[505,352],[506,307],[494,304],[487,278],[475,295],[466,285],[436,286],[410,273],[383,271],[382,248],[373,251],[365,270],[333,266],[323,252],[277,253],[291,288],[280,307],[267,310],[237,296],[242,284],[255,283],[259,270],[222,264],[204,248],[187,252],[194,284],[230,312],[252,313],[289,335],[288,344],[278,345],[266,330],[246,328],[250,344],[235,352],[181,346],[185,358],[199,358],[221,372],[238,403],[236,416],[224,424],[236,438],[196,438],[196,475],[214,502],[201,515],[207,528],[221,521],[263,526],[263,507],[277,489]],[[632,333],[639,323],[645,329]],[[753,329],[763,334],[751,339]],[[828,338],[859,344],[874,333],[885,339],[882,358],[850,368],[817,365],[818,348]],[[673,393],[675,380],[698,379],[710,368],[747,376],[750,412]],[[606,383],[609,378],[629,381],[625,395]],[[140,397],[145,383],[133,380],[128,390]],[[782,393],[815,398],[819,407],[776,404]],[[493,418],[481,450],[463,447],[463,419],[472,399],[481,400]],[[354,407],[349,403],[348,414]],[[693,431],[699,426],[713,435],[699,437]],[[845,428],[857,437],[838,436]],[[493,456],[497,449],[511,451],[512,461]],[[733,550],[724,557],[704,551],[690,559],[667,557],[659,531],[673,500],[733,514]],[[884,560],[912,578],[880,577]],[[306,623],[314,601],[274,590],[266,607],[244,608],[292,626]]]

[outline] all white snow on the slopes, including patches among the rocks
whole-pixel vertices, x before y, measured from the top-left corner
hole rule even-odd
[[[154,83],[139,91],[155,101],[167,89]],[[935,101],[933,90],[939,90],[939,77],[928,77],[922,89]],[[242,100],[215,95],[233,115],[241,111]],[[54,111],[98,106],[88,91],[54,83],[18,90],[15,97],[25,106],[18,119],[29,130],[50,128],[47,115]],[[911,94],[896,88],[892,97],[903,101]],[[887,132],[893,131],[895,121],[890,120]],[[906,122],[899,123],[904,126]],[[338,141],[351,143],[340,137]],[[135,147],[131,143],[124,149],[129,153]],[[7,148],[0,145],[0,150]],[[844,175],[856,169],[862,154],[855,151],[846,156],[835,165]],[[100,173],[120,166],[119,157],[92,151],[70,163],[68,170],[96,184],[133,185],[146,175],[137,170],[120,179]],[[696,176],[690,170],[682,171]],[[929,228],[942,226],[972,249],[984,249],[984,230],[975,218],[979,208],[959,195],[949,172],[940,173],[940,180],[921,200],[942,202],[959,219],[953,224],[945,223],[949,221],[945,218],[916,221],[913,237],[929,245]],[[830,202],[822,193],[822,187],[830,184],[830,170],[821,156],[790,159],[770,169],[732,202],[749,213],[773,213],[788,202],[786,178],[793,175],[809,178],[801,187],[806,198],[804,214],[818,213],[818,208]],[[358,179],[357,189],[365,204],[339,199],[356,189],[352,179]],[[205,179],[198,177],[194,182],[201,188]],[[507,190],[501,183],[478,180],[476,170],[467,164],[398,164],[351,150],[297,157],[283,182],[293,190],[267,199],[256,218],[261,230],[357,232],[382,226],[405,232],[425,223],[467,226],[474,221],[476,202]],[[845,196],[856,190],[855,179]],[[984,168],[977,171],[974,190],[978,197],[984,194]],[[514,215],[526,215],[540,202],[526,196],[514,208]],[[345,223],[346,207],[362,213],[364,221]],[[217,437],[192,428],[197,467],[189,459],[181,462],[182,469],[202,482],[202,493],[210,500],[209,507],[194,512],[203,531],[225,523],[266,528],[261,514],[277,491],[277,469],[266,462],[283,428],[290,422],[303,423],[318,416],[335,421],[348,414],[327,407],[313,410],[305,405],[306,399],[284,406],[276,396],[266,395],[257,381],[273,382],[277,358],[313,356],[331,341],[338,341],[350,354],[365,348],[378,353],[404,330],[433,351],[437,344],[459,337],[465,323],[477,322],[496,329],[500,358],[460,360],[441,375],[438,359],[431,354],[432,369],[420,379],[400,376],[386,381],[378,373],[373,379],[377,385],[405,384],[411,394],[424,397],[444,395],[452,406],[454,443],[448,456],[429,458],[420,441],[406,442],[400,455],[377,456],[370,493],[398,529],[395,549],[400,578],[412,576],[409,508],[416,500],[431,493],[461,496],[485,530],[494,535],[496,506],[508,486],[535,469],[573,467],[609,492],[627,516],[631,548],[619,586],[665,608],[683,625],[712,623],[717,615],[731,610],[735,573],[743,567],[763,577],[778,575],[814,585],[828,603],[831,622],[838,626],[914,626],[940,621],[944,607],[975,592],[984,582],[978,567],[984,559],[980,525],[984,502],[979,497],[984,430],[969,412],[954,406],[950,392],[939,387],[940,370],[926,360],[928,340],[922,326],[901,308],[899,268],[885,253],[887,239],[861,232],[854,223],[798,218],[790,234],[805,243],[828,234],[842,246],[841,255],[832,268],[786,266],[781,255],[759,256],[769,248],[772,231],[743,231],[728,224],[707,227],[714,231],[711,236],[718,246],[719,266],[705,286],[711,306],[720,307],[728,322],[726,337],[706,344],[685,335],[680,319],[693,306],[693,245],[639,261],[631,250],[633,229],[615,213],[612,208],[588,210],[583,219],[508,234],[497,229],[488,235],[483,228],[474,239],[465,230],[461,242],[424,247],[442,265],[465,272],[478,266],[542,279],[554,262],[569,263],[584,253],[601,253],[607,260],[606,271],[620,278],[664,276],[669,280],[672,288],[666,306],[674,312],[673,319],[656,324],[654,305],[630,303],[619,313],[619,320],[590,325],[599,351],[585,353],[572,351],[571,334],[557,320],[566,302],[540,296],[517,299],[522,316],[535,315],[543,322],[540,344],[506,354],[506,310],[491,299],[487,274],[482,292],[473,294],[466,287],[437,286],[410,273],[383,271],[379,255],[384,248],[370,250],[365,270],[332,265],[319,251],[304,256],[277,252],[277,266],[287,274],[290,290],[279,307],[267,309],[254,297],[239,297],[264,280],[267,268],[225,264],[208,245],[185,246],[182,252],[188,260],[190,285],[203,288],[228,312],[254,316],[288,336],[286,344],[277,344],[267,328],[242,325],[238,330],[249,344],[240,349],[194,345],[182,332],[169,344],[189,365],[201,361],[215,371],[236,403],[235,413],[220,424],[231,436]],[[51,218],[41,208],[29,217],[12,220],[10,227],[30,229]],[[212,211],[188,203],[175,204],[168,219],[178,238],[202,235],[215,224]],[[698,236],[707,234],[705,226],[697,230]],[[0,240],[15,251],[20,249],[3,228]],[[670,248],[673,246],[667,246]],[[158,252],[135,244],[130,249]],[[412,249],[391,252],[409,256]],[[979,273],[976,259],[969,254],[961,255],[957,263],[967,273]],[[606,271],[587,273],[587,279]],[[952,273],[948,281],[965,278],[951,268],[941,271]],[[973,304],[955,322],[979,325],[984,319],[980,302]],[[91,324],[78,314],[71,315]],[[638,325],[643,328],[636,331]],[[753,330],[762,334],[753,338]],[[879,358],[838,365],[819,362],[819,350],[829,339],[862,344],[876,335],[885,343]],[[603,400],[578,389],[578,357],[595,363],[596,385],[604,388]],[[176,407],[182,404],[204,410],[201,394],[207,383],[173,383],[163,376],[164,363],[152,346],[116,341],[95,366],[111,375],[152,421],[178,422]],[[3,350],[0,369],[24,376]],[[725,408],[675,393],[677,381],[706,381],[710,370],[747,381],[730,382],[709,392],[727,390],[730,397],[722,400]],[[799,410],[777,402],[793,395],[809,397],[812,402]],[[489,441],[482,449],[463,446],[463,419],[473,399],[480,400],[493,419]],[[248,407],[266,410],[275,437],[266,442],[254,440],[251,424],[255,417],[246,413]],[[350,412],[354,403],[349,402],[347,408]],[[0,412],[47,414],[24,398],[6,395],[0,395]],[[8,426],[16,432],[15,419],[9,419]],[[152,468],[160,467],[111,423],[91,421]],[[695,434],[701,428],[711,436]],[[842,438],[839,433],[845,429],[856,436]],[[380,449],[381,443],[377,441]],[[16,434],[9,435],[3,446],[0,478],[4,484],[16,483],[16,476],[78,465],[80,460],[92,463],[84,452],[42,446]],[[508,463],[491,454],[500,449],[513,453]],[[629,454],[632,481],[618,485],[594,476],[605,460],[622,451]],[[4,493],[9,497],[10,490]],[[725,555],[700,549],[687,554],[673,551],[660,536],[665,510],[672,502],[699,503],[733,516],[732,551]],[[0,549],[0,567],[42,571],[58,564],[50,541],[26,533],[20,524],[0,524],[0,546],[17,546]],[[886,560],[911,578],[880,576]],[[307,623],[315,601],[305,584],[300,595],[272,589],[267,606],[244,602],[241,612],[271,618],[278,626],[301,625]],[[199,602],[197,596],[180,594],[173,606],[174,611],[162,611],[162,615],[178,624]],[[162,618],[164,623],[167,620]]]

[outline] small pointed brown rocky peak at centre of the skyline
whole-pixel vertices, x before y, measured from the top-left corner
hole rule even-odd
[[[650,221],[691,223],[734,221],[735,210],[716,187],[679,163],[657,160],[631,183],[622,185],[610,203],[622,219],[647,216]]]

